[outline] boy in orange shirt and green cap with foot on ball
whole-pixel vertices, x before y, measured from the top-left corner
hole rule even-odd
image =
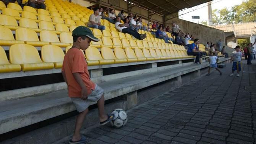
[[[69,143],[78,144],[87,141],[84,136],[80,135],[80,129],[92,102],[97,101],[100,125],[105,125],[112,120],[113,115],[105,114],[104,90],[91,81],[87,62],[81,51],[89,47],[91,40],[97,42],[99,39],[94,37],[91,30],[84,26],[74,29],[72,36],[74,43],[64,57],[62,75],[68,85],[68,96],[79,112],[76,118],[75,133]]]

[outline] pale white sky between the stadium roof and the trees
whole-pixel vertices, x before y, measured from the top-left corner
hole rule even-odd
[[[213,0],[212,1],[212,10],[217,9],[221,10],[222,8],[227,7],[229,10],[234,5],[240,5],[245,0]],[[180,19],[184,19],[186,21],[191,21],[194,23],[201,23],[202,21],[208,21],[208,7],[207,3],[203,3],[198,6],[194,6],[192,8],[188,8],[186,10],[180,11],[179,16]],[[204,7],[203,7],[204,6]],[[192,11],[195,10],[195,11]],[[190,13],[187,13],[189,11],[192,11]],[[185,14],[187,13],[187,14]],[[200,16],[200,19],[192,19],[192,16]]]

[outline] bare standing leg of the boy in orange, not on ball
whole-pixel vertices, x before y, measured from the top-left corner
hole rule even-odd
[[[88,108],[86,108],[86,110],[78,114],[76,118],[75,133],[72,137],[72,141],[79,141],[81,139],[80,129],[83,125],[83,121],[87,113],[88,113]]]

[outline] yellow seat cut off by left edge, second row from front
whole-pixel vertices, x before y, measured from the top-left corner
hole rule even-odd
[[[9,46],[13,44],[24,44],[24,42],[15,40],[10,29],[0,26],[0,45]]]

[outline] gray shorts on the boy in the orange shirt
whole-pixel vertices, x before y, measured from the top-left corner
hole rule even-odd
[[[94,91],[92,90],[92,93],[88,95],[86,100],[82,100],[80,97],[71,97],[71,100],[73,101],[76,110],[80,113],[86,110],[92,102],[98,101],[103,93],[104,90],[96,84]]]

